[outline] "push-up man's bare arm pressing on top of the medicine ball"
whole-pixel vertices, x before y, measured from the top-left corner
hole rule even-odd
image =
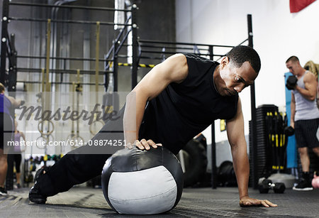
[[[186,57],[182,54],[177,54],[156,65],[143,77],[126,97],[123,118],[125,143],[133,144],[138,140],[138,131],[147,101],[157,97],[171,82],[182,82],[187,75]],[[142,144],[148,147],[146,141],[142,141]],[[140,147],[142,144],[137,146]]]

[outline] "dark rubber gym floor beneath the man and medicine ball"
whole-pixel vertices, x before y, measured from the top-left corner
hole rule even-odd
[[[319,190],[284,194],[250,195],[268,199],[278,207],[240,207],[236,187],[186,188],[177,207],[167,214],[147,217],[319,217]],[[49,197],[47,204],[35,205],[28,201],[28,189],[9,191],[0,196],[0,217],[140,217],[113,212],[104,200],[101,189],[73,187],[68,192]]]

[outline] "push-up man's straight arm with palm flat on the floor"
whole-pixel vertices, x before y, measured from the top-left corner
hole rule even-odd
[[[264,205],[264,207],[276,207],[269,200],[257,200],[248,195],[248,180],[250,177],[250,163],[247,156],[247,143],[244,133],[244,118],[242,116],[242,104],[238,99],[237,114],[227,121],[227,135],[233,156],[233,166],[237,178],[240,195],[240,206]]]

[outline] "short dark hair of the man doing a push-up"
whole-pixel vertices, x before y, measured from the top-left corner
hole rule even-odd
[[[238,45],[230,50],[226,54],[230,62],[235,65],[235,67],[241,67],[242,63],[248,61],[254,69],[254,72],[259,72],[260,70],[260,58],[258,53],[251,47],[245,45]]]

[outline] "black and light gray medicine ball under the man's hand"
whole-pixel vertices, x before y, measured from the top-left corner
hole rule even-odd
[[[150,150],[124,148],[102,171],[103,195],[120,214],[159,214],[181,199],[183,171],[173,153],[162,146]]]

